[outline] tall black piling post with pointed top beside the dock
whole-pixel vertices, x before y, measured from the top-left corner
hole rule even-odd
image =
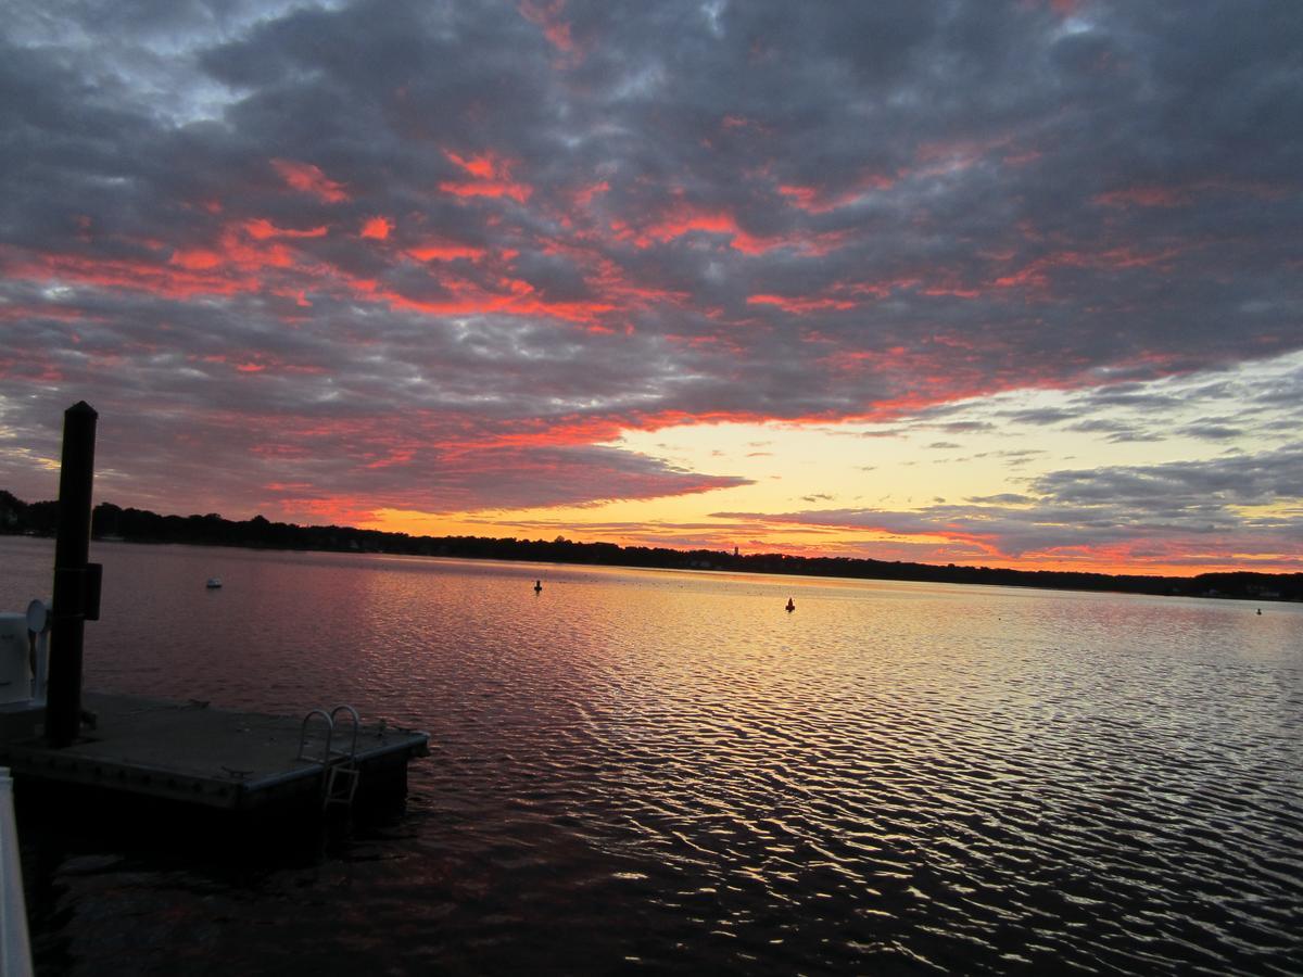
[[[50,685],[46,694],[46,740],[51,746],[68,746],[81,732],[85,624],[87,619],[99,617],[99,567],[86,561],[90,555],[90,492],[95,477],[98,419],[99,414],[85,400],[64,412]]]

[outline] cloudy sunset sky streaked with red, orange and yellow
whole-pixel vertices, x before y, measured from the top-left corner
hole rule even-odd
[[[1303,569],[1296,0],[17,0],[0,487]]]

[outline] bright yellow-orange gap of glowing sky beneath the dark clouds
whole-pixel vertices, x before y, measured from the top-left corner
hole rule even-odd
[[[1276,369],[1291,366],[1296,363]],[[1246,447],[1272,448],[1260,435],[1244,435],[1237,444],[1235,438],[1209,440],[1182,432],[1208,416],[1207,400],[1192,399],[1191,391],[1209,382],[1187,376],[1132,388],[1130,396],[1141,404],[1160,393],[1190,401],[1171,416],[1167,436],[1132,442],[1117,440],[1131,417],[1124,409],[1111,423],[1048,423],[1058,414],[1076,417],[1074,400],[1091,393],[1044,389],[977,399],[894,423],[727,422],[625,430],[607,447],[674,470],[741,477],[748,483],[585,505],[442,515],[383,509],[367,526],[1032,571],[1164,576],[1237,567],[1290,571],[1298,555],[1272,547],[1244,550],[1235,559],[1204,551],[1199,541],[1207,529],[1200,525],[1190,525],[1165,546],[1147,543],[1141,530],[1152,528],[1130,526],[1124,507],[1106,505],[1087,490],[1080,498],[1072,495],[1072,473],[1080,473],[1081,482],[1105,468],[1161,474],[1221,464]],[[1289,439],[1281,434],[1277,443],[1283,447]],[[1299,507],[1277,500],[1229,504],[1227,511],[1267,524],[1296,516]],[[1117,531],[1106,531],[1101,520],[1114,520]],[[1066,542],[1048,542],[1053,537]]]

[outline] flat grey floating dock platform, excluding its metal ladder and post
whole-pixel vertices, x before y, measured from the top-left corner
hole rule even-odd
[[[300,759],[302,716],[95,692],[82,694],[82,706],[95,714],[96,724],[83,729],[77,743],[55,749],[40,739],[0,740],[0,766],[10,767],[20,786],[31,779],[229,812],[284,808],[324,796],[323,720],[309,723],[306,754],[317,759]],[[427,744],[423,732],[364,724],[353,754],[358,793],[405,792],[407,765],[426,756]],[[332,745],[351,748],[351,722],[335,731]]]

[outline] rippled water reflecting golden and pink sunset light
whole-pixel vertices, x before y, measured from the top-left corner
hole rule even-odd
[[[1303,972],[1303,607],[93,559],[87,687],[352,702],[433,754],[308,857],[25,823],[42,972]],[[0,538],[0,608],[51,563]]]

